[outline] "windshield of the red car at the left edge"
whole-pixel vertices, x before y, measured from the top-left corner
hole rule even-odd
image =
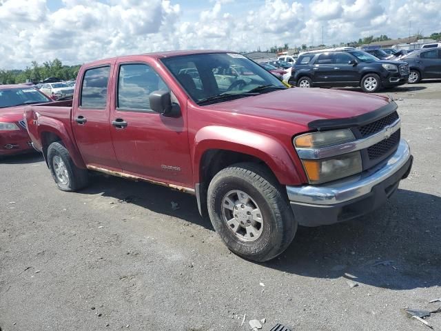
[[[35,88],[8,88],[0,90],[0,108],[50,102],[50,99]]]

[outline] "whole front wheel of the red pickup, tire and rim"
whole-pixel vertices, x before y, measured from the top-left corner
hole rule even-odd
[[[207,198],[214,229],[240,257],[268,261],[294,239],[297,222],[286,194],[262,165],[238,163],[221,170]]]

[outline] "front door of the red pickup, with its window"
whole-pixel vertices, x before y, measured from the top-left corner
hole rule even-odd
[[[192,188],[187,120],[183,116],[187,105],[180,105],[178,117],[165,117],[150,109],[150,93],[170,88],[149,63],[119,63],[114,74],[111,132],[123,172]],[[172,101],[178,103],[171,94]]]

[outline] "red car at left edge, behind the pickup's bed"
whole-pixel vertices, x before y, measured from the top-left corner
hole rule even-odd
[[[32,86],[0,85],[0,158],[33,150],[23,110],[28,105],[50,101]]]

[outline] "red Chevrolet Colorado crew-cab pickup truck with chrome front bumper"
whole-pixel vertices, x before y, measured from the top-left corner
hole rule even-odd
[[[247,74],[227,74],[238,66]],[[228,248],[254,261],[283,252],[298,225],[378,208],[413,160],[393,101],[286,88],[233,52],[89,63],[73,101],[30,106],[25,120],[61,190],[98,171],[194,194]]]

